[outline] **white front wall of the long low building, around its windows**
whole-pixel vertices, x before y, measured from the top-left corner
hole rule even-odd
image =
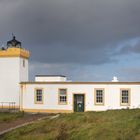
[[[44,103],[34,103],[34,89],[44,89]],[[68,104],[58,104],[58,89],[67,88]],[[104,88],[105,104],[94,104],[94,89]],[[121,109],[127,106],[120,105],[120,89],[131,89],[130,108],[140,107],[140,85],[134,84],[26,84],[23,88],[23,108],[31,110],[69,110],[73,111],[73,94],[85,93],[86,111],[104,111],[108,109]]]

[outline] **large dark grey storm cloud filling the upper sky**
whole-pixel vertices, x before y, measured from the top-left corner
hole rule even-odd
[[[0,0],[0,38],[15,33],[34,61],[103,64],[140,36],[139,13],[139,0]]]

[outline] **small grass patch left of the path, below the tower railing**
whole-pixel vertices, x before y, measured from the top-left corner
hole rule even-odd
[[[24,116],[24,112],[17,112],[17,113],[0,112],[0,123],[11,122],[16,120],[17,118],[22,118],[23,116]]]

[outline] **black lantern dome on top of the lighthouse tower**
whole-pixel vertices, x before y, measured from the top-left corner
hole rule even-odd
[[[16,37],[13,36],[13,39],[7,42],[7,47],[17,47],[21,48],[21,42],[16,40]]]

